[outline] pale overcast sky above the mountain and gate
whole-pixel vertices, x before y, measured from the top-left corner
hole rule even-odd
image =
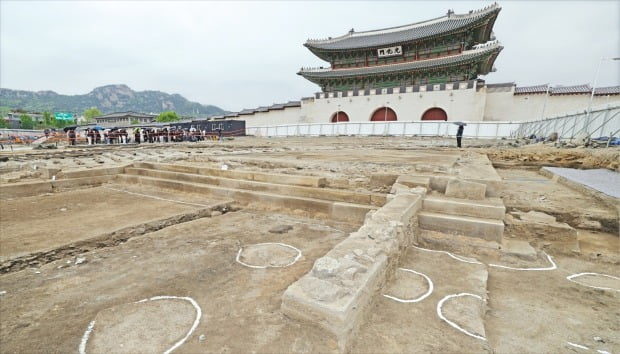
[[[0,87],[86,94],[127,84],[238,111],[320,89],[296,75],[327,66],[303,46],[326,38],[466,13],[466,1],[0,0]],[[500,1],[504,46],[488,83],[593,84],[620,56],[620,1]],[[620,84],[603,61],[598,86]]]

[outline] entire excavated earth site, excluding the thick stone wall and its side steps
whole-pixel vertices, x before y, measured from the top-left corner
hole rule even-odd
[[[620,352],[618,200],[540,172],[617,173],[620,150],[453,145],[240,137],[5,150],[0,352]],[[499,248],[416,222],[346,347],[281,310],[397,178],[489,173],[505,207]]]

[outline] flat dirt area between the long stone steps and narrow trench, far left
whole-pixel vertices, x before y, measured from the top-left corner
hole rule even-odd
[[[149,198],[148,193],[147,187],[140,187],[138,194],[135,187],[107,185],[4,201],[0,262],[200,208]],[[185,193],[171,194],[161,198],[188,202]],[[206,206],[215,201],[202,198],[200,202]]]

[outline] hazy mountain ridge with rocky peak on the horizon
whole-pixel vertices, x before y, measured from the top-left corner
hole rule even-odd
[[[26,91],[0,88],[0,106],[34,112],[73,112],[82,114],[97,107],[103,114],[136,111],[160,113],[175,111],[179,115],[213,116],[227,111],[214,105],[192,102],[178,93],[134,91],[125,84],[95,87],[82,95],[63,95],[51,90]]]

